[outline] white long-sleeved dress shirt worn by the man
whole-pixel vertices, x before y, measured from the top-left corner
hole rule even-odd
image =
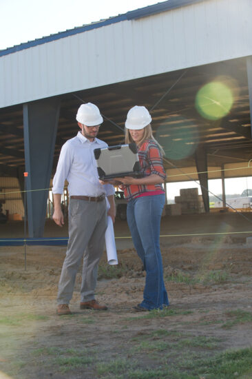
[[[114,194],[114,186],[101,185],[98,180],[94,149],[107,147],[100,139],[91,142],[81,132],[64,143],[52,181],[52,193],[63,194],[65,179],[69,196],[106,196]]]

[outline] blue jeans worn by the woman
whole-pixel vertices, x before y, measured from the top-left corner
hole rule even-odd
[[[127,203],[127,223],[136,252],[146,271],[141,307],[162,309],[169,305],[162,274],[160,252],[160,219],[165,194],[134,198]]]

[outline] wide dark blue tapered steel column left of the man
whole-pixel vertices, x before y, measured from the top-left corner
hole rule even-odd
[[[23,104],[28,229],[33,238],[43,237],[59,110],[57,98]]]

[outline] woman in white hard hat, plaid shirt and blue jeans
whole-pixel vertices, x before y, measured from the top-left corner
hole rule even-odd
[[[129,110],[125,122],[125,143],[136,143],[143,177],[116,178],[123,183],[127,198],[127,223],[136,252],[146,271],[142,303],[135,311],[162,309],[169,305],[162,274],[160,252],[160,219],[165,205],[165,170],[162,166],[163,150],[154,139],[151,116],[143,106]]]

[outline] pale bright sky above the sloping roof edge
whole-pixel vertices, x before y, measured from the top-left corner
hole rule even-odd
[[[0,50],[156,4],[158,0],[0,0]]]

